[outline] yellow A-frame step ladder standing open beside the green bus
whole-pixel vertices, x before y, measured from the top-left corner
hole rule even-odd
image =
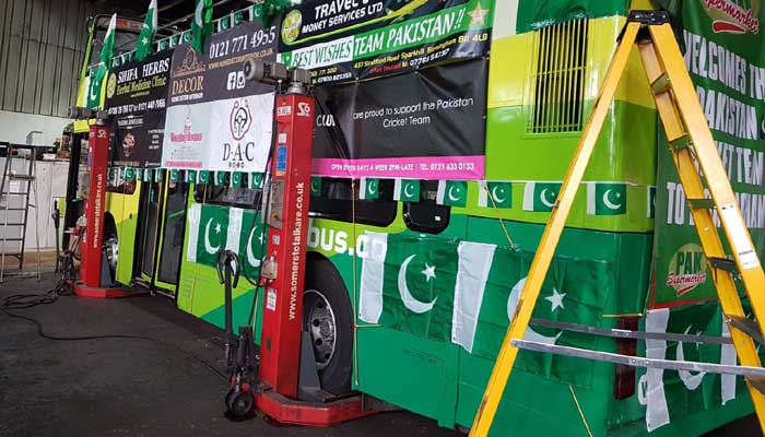
[[[651,85],[659,118],[667,133],[670,152],[685,189],[688,206],[704,249],[711,276],[717,287],[725,320],[738,353],[740,366],[720,366],[650,359],[567,346],[548,345],[523,340],[537,299],[555,248],[592,155],[616,85],[624,72],[629,51],[637,47]],[[705,188],[710,198],[705,196]],[[719,217],[732,257],[723,249],[713,212]],[[754,320],[743,311],[735,280],[746,291]],[[574,154],[555,208],[546,224],[534,256],[526,285],[520,295],[510,327],[499,350],[489,380],[471,436],[486,436],[492,426],[499,400],[520,349],[607,361],[629,366],[667,369],[705,369],[720,374],[744,376],[754,403],[761,428],[765,430],[765,369],[762,368],[754,339],[762,341],[765,322],[765,274],[752,245],[728,175],[718,155],[706,117],[696,96],[683,56],[669,24],[669,15],[660,11],[633,11],[627,19],[621,42],[611,60],[600,94]],[[590,327],[587,327],[590,328]],[[597,328],[595,328],[597,330]],[[580,329],[581,330],[581,329]],[[593,332],[593,331],[589,331]],[[633,332],[633,338],[647,338]]]

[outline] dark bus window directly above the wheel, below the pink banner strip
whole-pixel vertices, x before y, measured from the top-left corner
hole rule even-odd
[[[393,181],[380,179],[378,192],[379,199],[375,200],[360,200],[356,193],[354,206],[351,179],[322,178],[321,194],[310,197],[310,213],[316,217],[351,223],[355,208],[356,223],[388,226],[396,220],[396,202],[388,200],[393,193]]]

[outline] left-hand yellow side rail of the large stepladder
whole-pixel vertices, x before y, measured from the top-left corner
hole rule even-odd
[[[494,369],[492,370],[489,385],[486,386],[486,391],[481,400],[478,414],[475,415],[473,426],[470,430],[471,436],[486,436],[494,421],[499,400],[505,391],[510,371],[518,356],[518,349],[513,345],[513,340],[522,340],[523,333],[529,326],[531,314],[542,288],[542,283],[544,282],[553,255],[555,253],[555,248],[566,224],[568,213],[574,203],[574,198],[584,178],[585,169],[587,168],[598,137],[600,135],[603,121],[613,103],[616,86],[626,67],[629,52],[634,46],[639,28],[639,23],[627,24],[622,40],[616,47],[614,58],[605,73],[592,113],[582,131],[579,145],[574,153],[558,199],[555,202],[555,208],[544,228],[544,234],[542,235],[540,246],[531,263],[531,269],[529,270],[529,275],[523,291],[521,292],[516,312],[513,316],[510,327],[499,349],[499,354]]]

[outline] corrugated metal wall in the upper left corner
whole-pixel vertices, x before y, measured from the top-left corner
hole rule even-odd
[[[95,12],[86,0],[0,0],[0,109],[67,116]]]

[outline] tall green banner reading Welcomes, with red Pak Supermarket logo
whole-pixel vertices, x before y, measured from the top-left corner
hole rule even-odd
[[[752,240],[765,249],[765,3],[685,1],[684,60]],[[715,298],[716,291],[667,140],[659,140],[655,290],[650,306]],[[719,227],[719,218],[715,212]],[[721,229],[720,229],[721,233]],[[730,255],[730,250],[728,250]]]

